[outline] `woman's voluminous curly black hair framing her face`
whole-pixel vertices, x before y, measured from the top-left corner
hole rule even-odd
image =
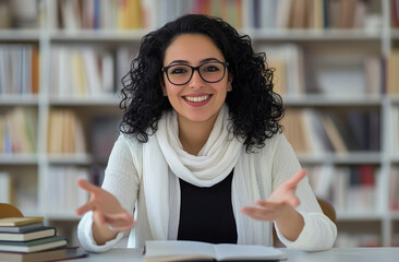
[[[206,35],[220,49],[233,75],[226,97],[232,120],[229,132],[244,141],[246,152],[253,152],[253,145],[264,147],[266,139],[282,131],[279,120],[285,108],[273,91],[274,69],[267,67],[264,52],[254,53],[250,36],[240,35],[221,19],[202,14],[183,15],[143,37],[138,56],[122,79],[120,131],[146,143],[162,112],[172,109],[161,90],[161,68],[166,49],[182,34]]]

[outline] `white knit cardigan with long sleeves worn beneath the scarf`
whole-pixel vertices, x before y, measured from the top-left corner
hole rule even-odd
[[[245,146],[243,146],[245,150]],[[262,199],[266,200],[270,193],[285,180],[290,178],[301,167],[294,152],[282,134],[276,134],[265,141],[265,146],[257,153],[251,153],[256,172]],[[156,159],[154,159],[156,160]],[[112,193],[130,214],[136,206],[136,226],[130,231],[128,248],[144,247],[146,240],[154,240],[148,224],[146,202],[143,187],[143,146],[134,138],[120,134],[116,142],[108,166],[102,188]],[[297,195],[301,204],[297,211],[304,218],[305,226],[295,241],[289,241],[279,234],[279,239],[287,248],[315,251],[331,248],[337,237],[336,225],[323,214],[307,177],[297,187]],[[264,223],[266,242],[273,246],[273,223]],[[98,246],[92,234],[93,215],[86,213],[77,227],[77,237],[84,249],[92,252],[105,252],[111,249],[126,233],[118,234],[117,238]]]

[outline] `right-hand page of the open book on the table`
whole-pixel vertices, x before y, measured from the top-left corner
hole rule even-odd
[[[275,260],[286,258],[285,253],[273,247],[253,245],[215,245],[217,260]]]

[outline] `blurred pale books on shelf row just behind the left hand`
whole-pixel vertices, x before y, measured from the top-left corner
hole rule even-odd
[[[35,174],[26,176],[33,177]],[[43,203],[43,211],[46,211],[47,215],[74,214],[78,206],[88,201],[88,193],[77,187],[77,180],[86,179],[101,186],[104,176],[105,166],[97,164],[89,167],[50,166],[46,177],[46,201]],[[0,170],[0,203],[17,205],[21,211],[32,213],[38,209],[38,184],[37,180],[25,184],[21,182],[24,179],[19,172]]]

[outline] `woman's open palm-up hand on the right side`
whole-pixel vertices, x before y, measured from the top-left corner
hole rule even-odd
[[[270,196],[255,202],[256,206],[246,206],[241,212],[257,221],[280,221],[287,218],[300,201],[295,194],[298,183],[305,177],[304,169],[281,183]]]

